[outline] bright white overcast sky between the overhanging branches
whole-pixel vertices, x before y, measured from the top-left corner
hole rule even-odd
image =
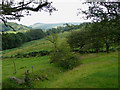
[[[83,0],[48,0],[52,1],[58,11],[54,11],[51,15],[48,12],[30,12],[31,16],[22,17],[20,21],[14,21],[18,24],[30,26],[35,23],[67,23],[67,22],[86,22],[81,18],[83,14],[77,16],[78,9],[87,9],[87,5],[83,5]],[[12,21],[13,22],[13,21]]]

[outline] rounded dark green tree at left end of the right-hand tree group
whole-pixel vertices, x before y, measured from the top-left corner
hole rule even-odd
[[[67,42],[70,44],[70,47],[73,50],[79,50],[82,52],[89,51],[91,48],[91,36],[90,28],[91,25],[85,25],[82,29],[77,31],[72,31],[71,34],[67,37]]]

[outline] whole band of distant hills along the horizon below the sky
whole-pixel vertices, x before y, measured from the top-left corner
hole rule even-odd
[[[48,29],[56,28],[57,26],[64,26],[64,24],[66,24],[66,23],[52,23],[52,24],[35,23],[34,25],[30,25],[28,27],[28,26],[25,26],[25,25],[22,25],[22,24],[14,23],[14,22],[8,22],[8,25],[11,25],[17,32],[26,32],[27,30],[30,30],[32,28],[33,29],[48,30]],[[79,25],[81,23],[80,22],[73,22],[73,23],[71,22],[71,23],[68,23],[68,24]],[[2,27],[0,29],[0,32],[5,31],[5,32],[14,33],[13,30],[10,27],[6,27],[3,23],[0,23],[0,27]]]

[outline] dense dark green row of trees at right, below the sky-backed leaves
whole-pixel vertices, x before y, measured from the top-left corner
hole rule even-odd
[[[118,47],[120,38],[120,20],[101,21],[90,24],[79,31],[72,31],[67,37],[73,50],[80,52],[109,53],[110,48]]]

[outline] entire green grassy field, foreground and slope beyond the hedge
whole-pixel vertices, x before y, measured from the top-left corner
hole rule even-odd
[[[59,34],[62,41],[68,33]],[[63,36],[64,35],[64,36]],[[45,39],[25,43],[19,48],[3,51],[3,56],[28,53],[32,51],[51,50],[52,44]],[[32,88],[117,88],[118,87],[118,52],[99,54],[78,54],[82,64],[72,70],[64,70],[49,63],[49,56],[30,58],[5,58],[2,60],[3,88],[22,88],[10,77],[23,78],[24,71],[30,69],[31,74],[44,75],[48,79],[35,80]],[[17,73],[14,73],[14,64]],[[32,71],[32,68],[33,71]]]

